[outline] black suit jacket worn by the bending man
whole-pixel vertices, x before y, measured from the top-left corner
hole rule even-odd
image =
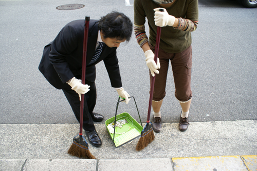
[[[98,20],[90,20],[87,41],[86,63],[94,56],[98,36]],[[45,78],[57,89],[67,86],[66,81],[72,77],[81,78],[83,58],[84,20],[74,20],[68,23],[57,37],[45,46],[39,70]],[[122,87],[117,48],[104,45],[99,59],[91,66],[86,66],[86,80],[96,79],[95,65],[104,61],[112,87]]]

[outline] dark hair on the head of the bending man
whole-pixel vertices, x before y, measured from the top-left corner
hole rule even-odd
[[[102,31],[104,38],[125,38],[126,41],[130,41],[133,24],[125,14],[113,11],[101,17],[98,29]]]

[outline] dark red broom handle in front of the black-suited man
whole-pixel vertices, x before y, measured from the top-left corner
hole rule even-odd
[[[82,78],[81,83],[85,84],[85,77],[86,77],[86,50],[87,50],[87,38],[88,38],[88,28],[89,28],[89,20],[90,17],[85,17],[85,29],[84,29],[84,42],[83,42],[83,60],[82,60]],[[83,131],[83,111],[84,111],[84,94],[81,94],[81,101],[80,101],[80,133],[82,135]]]

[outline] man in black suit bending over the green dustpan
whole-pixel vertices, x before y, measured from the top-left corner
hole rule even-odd
[[[62,89],[78,121],[81,94],[85,94],[83,129],[89,142],[97,147],[102,142],[93,121],[100,122],[103,116],[93,112],[97,97],[95,65],[104,61],[112,87],[128,103],[130,95],[122,88],[116,50],[121,42],[130,40],[132,30],[131,20],[123,13],[111,12],[100,20],[90,19],[85,85],[81,83],[84,20],[68,23],[44,48],[39,70],[53,87]]]

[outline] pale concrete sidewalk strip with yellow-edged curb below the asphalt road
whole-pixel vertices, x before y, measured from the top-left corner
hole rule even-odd
[[[96,160],[67,154],[79,124],[0,124],[0,170],[257,170],[257,121],[191,122],[186,132],[177,124],[163,123],[136,152],[139,138],[116,148],[96,123],[103,142],[89,144]]]

